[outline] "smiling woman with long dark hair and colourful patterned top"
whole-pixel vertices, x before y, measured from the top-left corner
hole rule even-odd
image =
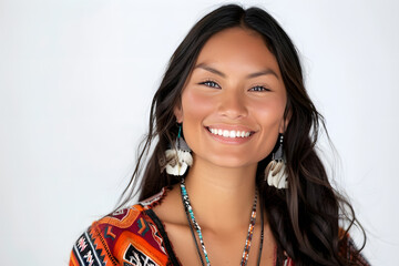
[[[171,59],[121,207],[70,265],[368,265],[315,151],[319,123],[278,23],[257,8],[211,12]]]

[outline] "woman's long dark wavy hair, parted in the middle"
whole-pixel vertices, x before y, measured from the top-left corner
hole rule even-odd
[[[339,255],[339,222],[346,219],[349,228],[356,217],[350,204],[330,185],[316,153],[319,130],[325,127],[324,119],[305,90],[295,45],[277,21],[259,8],[244,10],[228,4],[216,9],[192,28],[173,53],[153,98],[149,134],[139,150],[137,164],[120,206],[136,193],[142,201],[178,182],[162,172],[161,166],[165,161],[165,150],[177,136],[174,106],[180,104],[183,86],[205,42],[215,33],[234,27],[256,31],[264,38],[278,62],[287,90],[285,116],[289,115],[289,123],[285,131],[284,152],[288,190],[276,190],[263,181],[270,157],[258,163],[256,175],[277,245],[296,265],[348,265]]]

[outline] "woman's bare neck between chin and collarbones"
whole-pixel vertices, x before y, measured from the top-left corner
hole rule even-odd
[[[196,160],[185,183],[198,224],[208,229],[248,226],[255,174],[256,165],[219,167]]]

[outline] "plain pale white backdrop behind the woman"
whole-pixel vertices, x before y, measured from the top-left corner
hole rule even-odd
[[[68,264],[130,180],[174,49],[223,2],[0,0],[1,265]],[[325,150],[335,182],[368,232],[365,255],[393,265],[398,1],[242,3],[265,8],[296,43],[339,155]]]

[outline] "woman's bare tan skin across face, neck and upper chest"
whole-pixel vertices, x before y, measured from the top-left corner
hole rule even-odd
[[[239,265],[255,195],[257,163],[283,133],[287,96],[275,57],[262,37],[232,28],[212,37],[175,108],[177,122],[193,151],[186,188],[212,265]],[[250,132],[222,137],[211,129]],[[154,207],[183,265],[201,265],[182,204],[180,186]],[[256,265],[260,208],[247,265]],[[273,265],[276,242],[264,216],[262,265]]]

